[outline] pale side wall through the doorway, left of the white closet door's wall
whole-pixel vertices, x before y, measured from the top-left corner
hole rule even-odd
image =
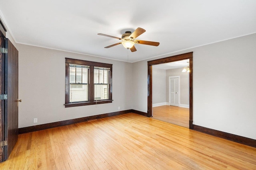
[[[152,104],[166,103],[166,70],[152,69]]]

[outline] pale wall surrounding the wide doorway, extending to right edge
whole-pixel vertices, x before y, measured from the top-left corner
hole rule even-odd
[[[133,109],[147,112],[147,61],[191,51],[193,124],[256,139],[256,34],[133,63]]]

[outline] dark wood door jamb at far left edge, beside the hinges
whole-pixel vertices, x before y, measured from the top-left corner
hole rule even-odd
[[[5,47],[5,37],[0,31],[0,48]],[[0,94],[4,94],[4,54],[0,53]],[[4,100],[0,100],[0,141],[4,141],[4,114],[3,114],[3,106]],[[4,148],[0,147],[0,162],[4,160],[4,152],[2,151]]]

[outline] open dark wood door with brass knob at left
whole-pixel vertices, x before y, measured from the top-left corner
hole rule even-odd
[[[6,160],[18,141],[18,50],[6,39],[8,53],[4,59],[4,90],[7,100],[4,100],[4,160]]]

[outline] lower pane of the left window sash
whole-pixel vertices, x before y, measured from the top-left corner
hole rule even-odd
[[[88,101],[88,85],[87,84],[70,84],[69,102],[85,102]]]

